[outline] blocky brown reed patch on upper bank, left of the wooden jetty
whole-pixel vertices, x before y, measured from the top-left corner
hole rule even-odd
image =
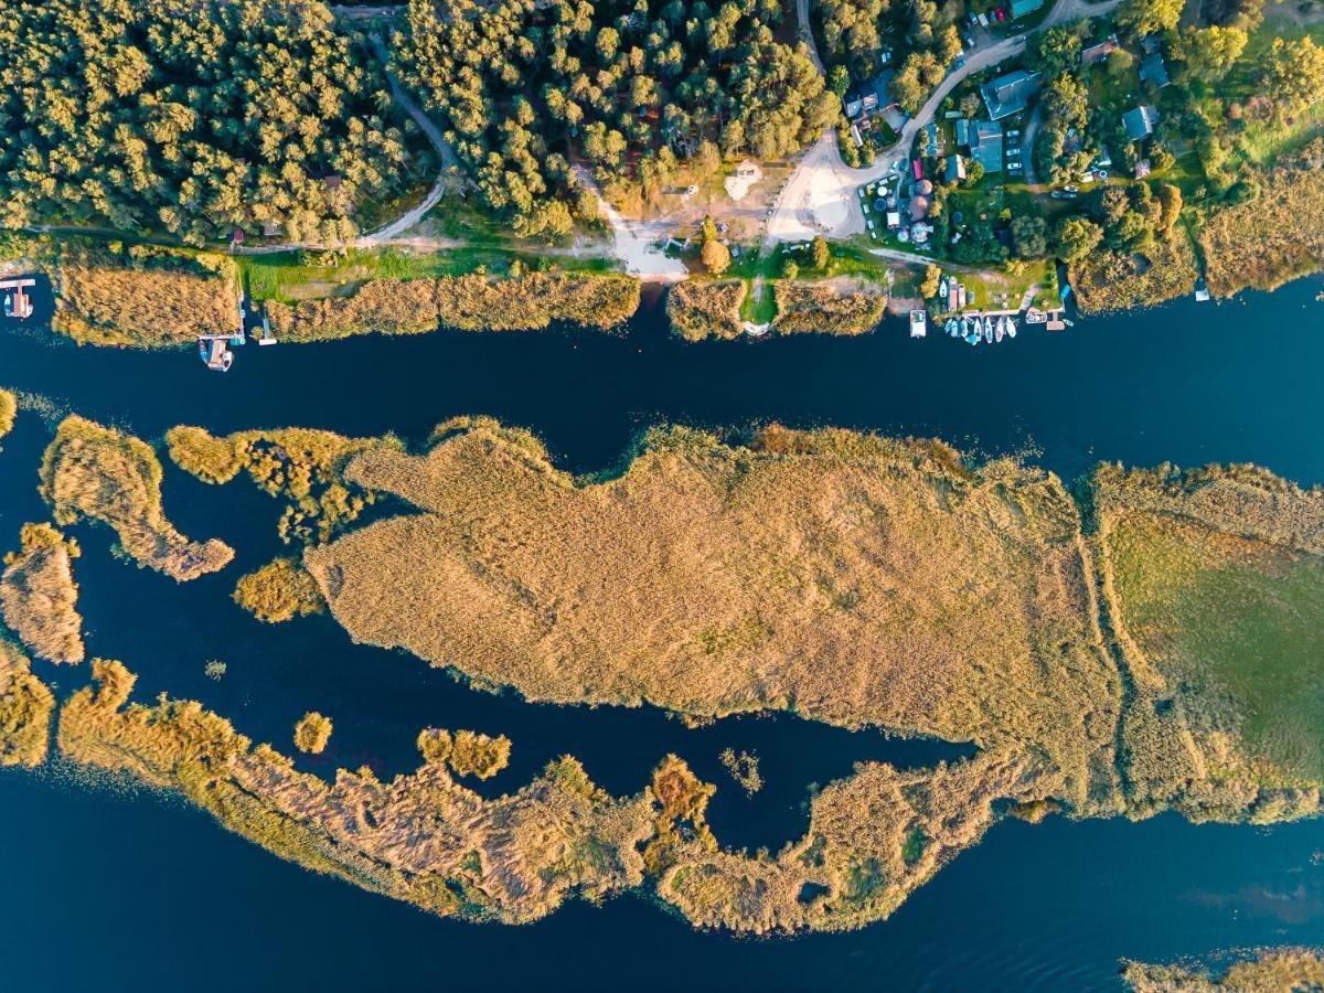
[[[218,254],[68,244],[57,285],[50,326],[79,344],[169,348],[240,328],[234,263]]]

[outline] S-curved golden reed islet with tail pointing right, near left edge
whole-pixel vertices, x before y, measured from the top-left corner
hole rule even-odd
[[[162,465],[146,442],[77,414],[60,424],[41,463],[41,495],[57,524],[99,520],[128,557],[179,583],[229,564],[234,552],[224,542],[191,542],[175,530],[160,485]]]

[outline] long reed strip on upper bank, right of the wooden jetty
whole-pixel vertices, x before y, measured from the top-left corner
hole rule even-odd
[[[535,331],[553,322],[609,330],[639,306],[639,283],[625,275],[526,273],[518,277],[383,279],[348,297],[271,302],[273,332],[286,342],[348,335],[424,334],[438,326],[462,331]]]

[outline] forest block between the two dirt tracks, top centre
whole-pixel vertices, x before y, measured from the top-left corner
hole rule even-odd
[[[401,78],[445,120],[482,203],[516,233],[597,207],[573,167],[645,192],[723,158],[784,159],[841,110],[780,0],[412,0]]]

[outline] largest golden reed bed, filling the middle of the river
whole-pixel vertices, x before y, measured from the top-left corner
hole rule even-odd
[[[797,450],[769,454],[655,434],[584,485],[483,424],[422,457],[369,450],[347,478],[424,512],[305,565],[356,641],[530,699],[1014,739],[1083,796],[1117,691],[1061,483],[920,444],[786,437]]]

